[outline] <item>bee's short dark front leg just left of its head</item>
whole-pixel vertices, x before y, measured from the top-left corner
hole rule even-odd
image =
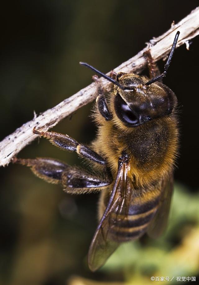
[[[104,117],[106,121],[110,121],[113,118],[113,115],[109,111],[109,107],[104,95],[104,87],[100,84],[99,78],[97,75],[93,76],[93,80],[97,83],[97,98],[96,98],[96,104],[99,113]]]

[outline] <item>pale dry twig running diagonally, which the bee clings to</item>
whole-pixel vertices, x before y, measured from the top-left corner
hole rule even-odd
[[[123,62],[120,66],[115,68],[114,71],[123,71],[127,73],[141,72],[147,64],[147,59],[143,56],[143,53],[148,49],[150,49],[151,55],[155,61],[165,58],[171,49],[174,36],[178,30],[180,31],[180,36],[177,47],[182,44],[186,44],[186,47],[188,47],[188,41],[199,34],[199,7],[193,10],[178,24],[172,23],[171,28],[166,33],[158,38],[150,40],[150,42],[147,43],[146,48],[136,56]],[[109,90],[111,83],[104,78],[101,79],[101,82],[104,87]],[[35,126],[38,126],[43,131],[47,131],[81,106],[93,101],[95,96],[95,84],[92,83],[72,95],[70,98],[65,99],[57,106],[45,111],[38,117],[34,117],[33,120],[16,129],[14,133],[0,142],[0,166],[7,165],[13,156],[18,154],[21,149],[30,144],[30,142],[37,137],[32,131]]]

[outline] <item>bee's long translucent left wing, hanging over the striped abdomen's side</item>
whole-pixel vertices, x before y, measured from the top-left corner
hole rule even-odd
[[[114,236],[114,240],[112,238],[111,229],[117,227],[119,223],[118,214],[122,214],[124,217],[128,214],[131,202],[131,191],[127,187],[129,185],[127,176],[129,167],[127,162],[118,163],[118,172],[109,202],[90,244],[88,265],[91,271],[99,269],[119,246],[117,237]]]

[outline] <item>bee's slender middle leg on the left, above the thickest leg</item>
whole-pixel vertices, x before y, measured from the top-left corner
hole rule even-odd
[[[53,131],[43,132],[36,130],[35,128],[33,129],[33,132],[34,134],[49,139],[53,145],[56,145],[57,147],[63,150],[76,151],[77,154],[79,154],[83,158],[94,161],[95,163],[101,164],[103,166],[107,165],[106,160],[103,159],[99,154],[90,149],[88,146],[79,144],[70,136],[56,133]]]

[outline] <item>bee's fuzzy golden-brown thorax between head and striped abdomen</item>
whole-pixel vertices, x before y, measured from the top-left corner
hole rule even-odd
[[[134,187],[153,185],[174,168],[178,149],[176,126],[174,115],[125,130],[112,122],[101,121],[95,149],[108,160],[113,176],[118,158],[125,150],[130,156]]]

